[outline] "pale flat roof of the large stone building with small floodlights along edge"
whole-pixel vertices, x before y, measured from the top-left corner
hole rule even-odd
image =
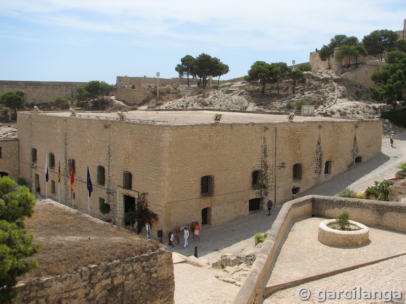
[[[24,112],[32,115],[71,117],[70,111]],[[134,110],[122,112],[124,121],[131,123],[153,123],[160,125],[200,125],[215,123],[216,114],[221,114],[220,124],[286,123],[288,115],[275,115],[258,112],[233,112],[212,110]],[[77,111],[76,117],[85,119],[120,120],[118,112]],[[294,116],[293,122],[354,121],[320,116]]]

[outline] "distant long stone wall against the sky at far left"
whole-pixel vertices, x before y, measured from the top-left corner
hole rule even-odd
[[[43,104],[52,102],[56,97],[73,98],[76,95],[76,88],[86,84],[81,82],[0,81],[0,95],[9,91],[22,91],[26,94],[26,103]]]

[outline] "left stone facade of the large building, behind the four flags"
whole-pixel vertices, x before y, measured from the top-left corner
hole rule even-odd
[[[138,197],[149,193],[149,207],[162,215],[162,152],[164,146],[159,126],[111,120],[95,120],[82,117],[57,117],[38,113],[19,113],[17,137],[20,145],[20,175],[32,188],[35,175],[39,175],[41,194],[45,196],[45,162],[49,153],[55,156],[55,167],[49,168],[48,197],[72,206],[69,159],[76,164],[74,207],[88,212],[87,166],[93,184],[90,197],[90,214],[106,217],[99,212],[99,198],[111,205],[110,217],[121,226],[124,224],[124,195]],[[38,162],[30,166],[31,149],[37,149]],[[58,194],[58,159],[61,161],[61,183]],[[97,181],[97,167],[105,168],[106,182]],[[131,190],[123,190],[123,172],[132,175]],[[50,191],[56,183],[55,193]],[[107,191],[109,189],[109,191]],[[108,193],[107,193],[108,192]],[[126,210],[128,211],[128,210]],[[155,226],[154,226],[155,227]]]

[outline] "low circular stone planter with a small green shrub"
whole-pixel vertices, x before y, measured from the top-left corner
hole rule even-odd
[[[342,231],[331,229],[327,225],[336,222],[335,219],[327,219],[319,225],[319,242],[327,246],[356,247],[369,242],[369,229],[367,226],[350,220],[351,225],[358,226],[360,230]]]

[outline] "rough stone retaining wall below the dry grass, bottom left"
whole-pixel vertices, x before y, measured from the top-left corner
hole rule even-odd
[[[174,303],[172,253],[161,247],[17,288],[15,303]]]

